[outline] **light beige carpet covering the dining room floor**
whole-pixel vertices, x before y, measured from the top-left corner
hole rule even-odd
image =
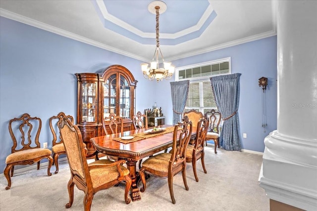
[[[262,155],[205,147],[204,173],[198,162],[199,182],[195,181],[191,164],[187,165],[187,183],[184,188],[181,173],[174,177],[176,204],[171,203],[167,179],[151,176],[141,200],[126,205],[124,185],[95,194],[92,211],[269,211],[269,199],[259,186],[258,177]],[[70,178],[68,163],[59,166],[59,172],[47,176],[47,167],[15,174],[11,189],[5,190],[7,181],[0,178],[0,211],[63,211],[68,202],[67,182]],[[2,174],[3,175],[3,174]],[[140,183],[142,185],[142,182]],[[82,211],[84,192],[75,187],[74,203],[68,211]]]

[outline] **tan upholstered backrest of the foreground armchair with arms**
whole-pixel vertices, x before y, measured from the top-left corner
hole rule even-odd
[[[73,177],[92,187],[92,181],[86,160],[86,150],[79,128],[64,117],[59,124],[59,131],[65,147],[69,168]]]

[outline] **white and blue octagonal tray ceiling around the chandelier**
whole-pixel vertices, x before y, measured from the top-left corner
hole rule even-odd
[[[0,15],[141,61],[155,50],[152,0],[1,0]],[[276,34],[271,0],[165,0],[159,40],[174,60]]]

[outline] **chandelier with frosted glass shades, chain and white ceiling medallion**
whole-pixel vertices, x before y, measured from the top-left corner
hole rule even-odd
[[[171,62],[165,62],[162,52],[159,48],[159,10],[161,10],[161,13],[165,12],[166,10],[166,4],[163,1],[153,1],[149,4],[148,9],[150,12],[156,13],[156,43],[157,47],[154,52],[154,56],[152,59],[152,62],[150,64],[150,67],[148,63],[141,64],[141,70],[143,72],[143,76],[146,79],[149,79],[150,81],[153,81],[154,79],[159,81],[163,81],[163,79],[169,80],[172,78],[172,75],[175,71],[175,66],[171,65]],[[163,67],[159,68],[159,56],[162,58]]]

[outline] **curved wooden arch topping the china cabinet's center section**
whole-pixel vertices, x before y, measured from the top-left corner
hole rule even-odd
[[[111,65],[111,66],[107,67],[104,70],[104,72],[102,73],[102,78],[103,78],[104,82],[106,82],[106,79],[109,76],[113,75],[114,73],[119,73],[119,74],[125,76],[129,82],[129,84],[136,87],[138,81],[135,80],[132,73],[127,68],[123,67],[122,65]]]

